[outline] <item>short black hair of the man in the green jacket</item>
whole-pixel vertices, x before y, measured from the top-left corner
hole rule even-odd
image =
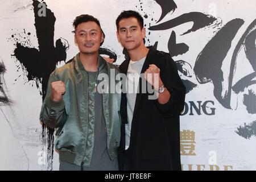
[[[76,27],[79,26],[80,23],[85,23],[85,22],[95,22],[100,27],[101,32],[103,34],[103,37],[105,39],[105,34],[104,34],[104,31],[101,28],[100,21],[97,18],[94,18],[92,15],[82,14],[82,15],[76,16],[76,19],[73,22],[73,27],[75,28],[75,31],[76,31]],[[72,31],[72,32],[75,33],[75,31]],[[104,43],[104,40],[101,43],[101,45],[103,43]]]

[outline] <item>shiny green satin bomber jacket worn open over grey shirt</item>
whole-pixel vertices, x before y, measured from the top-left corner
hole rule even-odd
[[[89,127],[92,115],[89,109],[94,109],[89,104],[88,75],[82,74],[79,67],[79,53],[70,63],[53,71],[49,76],[47,94],[40,111],[40,121],[56,130],[55,148],[59,151],[60,160],[89,166],[92,157],[92,148],[86,148],[86,143],[93,143],[93,133]],[[107,63],[98,56],[98,75],[101,73],[108,77],[108,85],[118,84],[119,69]],[[110,76],[110,72],[114,76]],[[63,81],[66,92],[63,100],[55,102],[51,98],[51,82]],[[106,81],[106,80],[105,80]],[[110,88],[110,86],[109,86]],[[120,117],[121,92],[102,93],[103,113],[107,130],[107,147],[111,159],[117,158],[117,148],[120,142],[121,117]],[[88,151],[89,150],[89,151]]]

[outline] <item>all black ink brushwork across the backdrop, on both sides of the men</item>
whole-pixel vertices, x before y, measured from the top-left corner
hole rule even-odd
[[[155,0],[162,9],[162,14],[158,19],[160,22],[168,13],[173,13],[177,9],[177,5],[173,0],[164,1],[164,0]],[[47,82],[49,75],[52,71],[56,69],[56,64],[60,61],[65,61],[67,59],[67,49],[69,48],[68,41],[64,38],[59,38],[55,42],[54,46],[54,33],[55,33],[55,15],[54,13],[46,9],[46,16],[39,16],[39,1],[33,0],[32,6],[34,7],[34,16],[35,16],[35,30],[36,36],[38,38],[38,48],[31,48],[22,45],[18,40],[16,42],[16,48],[14,50],[14,56],[19,61],[23,72],[26,73],[28,80],[35,80],[36,86],[39,89],[39,84],[42,84],[42,90],[40,90],[40,94],[42,95],[42,99],[46,96]],[[46,3],[43,2],[45,5]],[[47,7],[47,5],[46,5]],[[145,18],[148,15],[144,15]],[[150,26],[148,28],[152,31],[157,30],[167,30],[173,27],[179,26],[181,24],[193,22],[193,26],[191,29],[185,31],[181,35],[185,35],[191,32],[195,32],[204,27],[209,27],[213,25],[217,25],[217,18],[207,15],[200,12],[190,12],[185,13],[183,15],[178,16],[177,18],[168,20],[167,22],[160,23],[155,26]],[[230,108],[230,96],[231,90],[233,89],[235,93],[242,92],[246,87],[255,84],[255,72],[250,75],[239,80],[232,87],[232,80],[235,72],[236,58],[238,52],[242,47],[245,48],[246,57],[250,61],[254,71],[256,70],[256,48],[255,48],[255,38],[256,31],[255,28],[255,20],[250,26],[247,28],[246,32],[243,34],[240,42],[238,42],[236,49],[232,56],[232,61],[230,65],[230,75],[229,75],[229,87],[228,90],[225,90],[225,95],[222,96],[221,93],[224,88],[222,88],[223,72],[221,70],[222,62],[225,59],[230,47],[231,42],[234,39],[234,36],[237,34],[237,31],[243,24],[242,19],[233,19],[228,22],[217,34],[210,40],[197,56],[195,67],[192,69],[191,65],[186,61],[179,60],[175,61],[177,68],[179,71],[186,77],[191,77],[192,71],[195,71],[195,75],[200,84],[204,84],[206,82],[212,81],[214,86],[214,96],[221,103],[222,106]],[[28,33],[30,35],[30,33]],[[154,47],[157,48],[158,42],[154,44]],[[176,34],[174,31],[171,32],[171,36],[168,42],[168,51],[171,56],[182,55],[189,51],[189,47],[185,43],[176,43]],[[218,52],[218,54],[214,54]],[[117,60],[117,55],[114,51],[110,51],[107,48],[100,48],[99,51],[102,55],[109,55],[110,58]],[[123,54],[125,58],[129,58],[129,55],[125,49],[123,49]],[[189,67],[189,66],[190,67]],[[0,106],[1,104],[9,104],[10,100],[7,97],[5,88],[5,81],[3,80],[3,74],[6,69],[3,63],[0,62]],[[187,93],[190,92],[197,85],[189,80],[183,80]],[[246,105],[246,109],[249,113],[255,113],[254,103],[251,102],[255,100],[255,93],[250,90],[249,94],[243,95],[243,104]],[[255,126],[256,122],[245,126],[240,126],[238,128],[237,133],[244,138],[250,138],[251,136],[255,136]],[[52,169],[52,159],[53,159],[53,136],[54,130],[45,129],[43,126],[42,139],[43,144],[47,144],[47,160],[48,160],[48,169]]]

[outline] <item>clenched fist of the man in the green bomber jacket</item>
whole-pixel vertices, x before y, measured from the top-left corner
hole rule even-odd
[[[65,84],[62,81],[55,81],[51,83],[52,86],[52,100],[53,101],[61,101],[62,96],[65,94]]]

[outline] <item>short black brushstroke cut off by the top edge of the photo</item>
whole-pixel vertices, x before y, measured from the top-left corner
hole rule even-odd
[[[177,8],[177,5],[173,0],[155,0],[155,2],[158,3],[158,5],[160,5],[162,9],[162,14],[156,23],[160,22],[160,20],[162,20],[164,16],[166,16],[170,12],[174,12],[175,9]]]

